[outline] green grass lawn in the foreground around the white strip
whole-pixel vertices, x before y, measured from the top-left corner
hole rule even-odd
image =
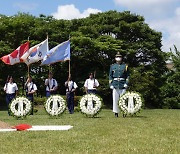
[[[72,125],[68,131],[17,131],[0,133],[0,153],[180,153],[180,110],[143,110],[138,117],[115,118],[103,109],[97,118],[79,112],[58,119],[44,109],[25,120],[0,111],[0,120],[11,125]]]

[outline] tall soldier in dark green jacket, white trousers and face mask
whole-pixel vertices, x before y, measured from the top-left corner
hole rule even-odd
[[[126,92],[129,81],[128,65],[122,62],[122,55],[118,52],[115,56],[116,63],[110,66],[109,85],[113,95],[113,112],[118,117],[119,97]]]

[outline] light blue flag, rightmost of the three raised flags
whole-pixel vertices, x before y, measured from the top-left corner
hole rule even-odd
[[[66,60],[70,60],[70,40],[63,42],[48,51],[43,58],[41,65],[48,65]]]

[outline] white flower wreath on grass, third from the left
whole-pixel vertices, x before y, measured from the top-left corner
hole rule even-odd
[[[102,107],[102,99],[95,94],[86,94],[80,100],[81,112],[88,116],[95,116]]]

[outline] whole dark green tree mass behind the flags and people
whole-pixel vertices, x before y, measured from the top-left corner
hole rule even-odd
[[[160,107],[159,87],[161,76],[166,71],[165,55],[161,51],[161,33],[152,30],[142,16],[129,11],[108,11],[74,20],[56,20],[51,16],[34,17],[19,13],[0,18],[0,56],[16,49],[30,38],[31,46],[49,36],[50,48],[71,37],[71,74],[78,84],[77,95],[83,95],[83,84],[89,72],[96,71],[100,81],[99,94],[105,105],[111,105],[111,90],[108,87],[109,67],[120,51],[131,70],[130,89],[142,93],[146,106]],[[64,82],[68,76],[68,63],[52,66],[54,77],[59,83],[58,93],[65,94]],[[48,67],[31,65],[31,75],[38,86],[38,96],[44,96],[44,80]],[[17,72],[18,70],[18,72]],[[135,70],[135,71],[134,71]],[[8,75],[13,75],[19,88],[20,77],[27,76],[25,64],[0,65],[0,86]],[[22,88],[20,88],[22,89]],[[2,95],[2,92],[1,92]]]

